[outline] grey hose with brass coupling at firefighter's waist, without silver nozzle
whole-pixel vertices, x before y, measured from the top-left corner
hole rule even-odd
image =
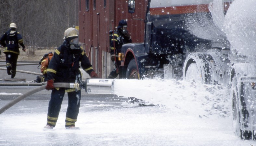
[[[79,84],[76,83],[54,83],[53,84],[54,87],[56,88],[78,88],[79,87]],[[18,103],[19,101],[21,101],[22,99],[36,93],[36,92],[39,92],[39,91],[42,91],[44,90],[46,87],[46,85],[43,85],[43,86],[40,86],[40,87],[37,87],[31,91],[28,91],[27,93],[23,94],[23,95],[20,95],[19,97],[15,98],[14,100],[12,100],[11,102],[7,103],[5,106],[3,106],[1,109],[0,109],[0,115],[5,112],[8,108],[12,107],[14,104]]]

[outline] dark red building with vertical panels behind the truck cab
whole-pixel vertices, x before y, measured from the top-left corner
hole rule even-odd
[[[133,42],[144,41],[147,0],[137,0],[136,6],[130,14],[126,0],[79,0],[79,41],[100,78],[107,78],[114,68],[109,49],[112,24],[116,27],[119,20],[126,19]]]

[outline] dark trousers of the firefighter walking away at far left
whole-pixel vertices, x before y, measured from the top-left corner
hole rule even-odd
[[[11,74],[13,76],[16,75],[16,67],[17,67],[17,60],[18,60],[18,54],[14,53],[5,53],[6,56],[6,68],[11,69]]]

